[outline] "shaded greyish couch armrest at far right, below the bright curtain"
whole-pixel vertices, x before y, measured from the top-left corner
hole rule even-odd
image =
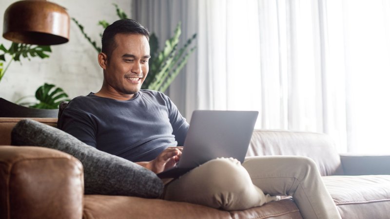
[[[390,156],[340,155],[345,175],[390,175]]]

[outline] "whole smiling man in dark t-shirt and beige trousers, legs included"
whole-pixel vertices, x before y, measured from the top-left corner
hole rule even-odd
[[[140,90],[149,70],[148,39],[148,31],[132,19],[108,26],[98,55],[103,85],[70,101],[59,128],[159,173],[180,159],[189,125],[166,95]],[[242,210],[274,200],[259,187],[292,195],[304,218],[340,218],[316,165],[304,157],[252,157],[242,165],[215,159],[167,183],[162,198]]]

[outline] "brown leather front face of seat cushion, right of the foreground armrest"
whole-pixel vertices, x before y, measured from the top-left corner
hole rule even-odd
[[[227,211],[160,199],[88,195],[83,219],[230,219]]]

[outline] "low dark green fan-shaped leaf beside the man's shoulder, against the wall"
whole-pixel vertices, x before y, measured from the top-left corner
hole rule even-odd
[[[68,94],[66,94],[61,88],[56,87],[53,84],[47,84],[40,86],[35,92],[35,100],[33,102],[21,102],[32,96],[25,96],[20,98],[16,103],[30,108],[36,109],[58,109],[61,101],[70,101]]]

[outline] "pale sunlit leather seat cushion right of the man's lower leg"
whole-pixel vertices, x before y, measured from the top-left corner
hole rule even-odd
[[[390,175],[326,176],[323,180],[343,219],[390,217]]]

